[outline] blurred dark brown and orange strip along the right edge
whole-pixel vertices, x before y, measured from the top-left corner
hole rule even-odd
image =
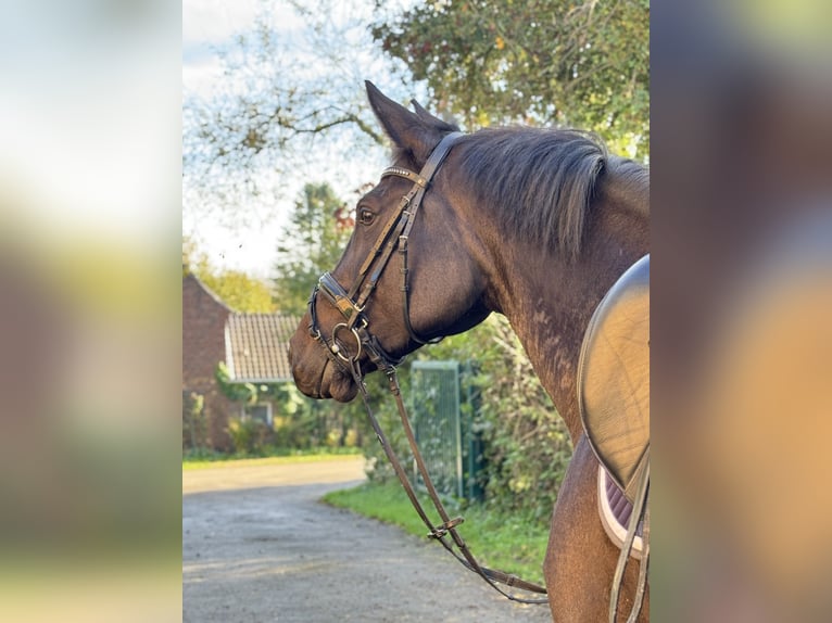
[[[828,621],[823,2],[652,5],[656,621]]]

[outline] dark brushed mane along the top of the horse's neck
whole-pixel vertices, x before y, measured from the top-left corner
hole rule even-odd
[[[477,200],[492,205],[507,230],[544,244],[556,241],[575,258],[607,165],[604,144],[589,132],[526,127],[487,128],[463,140],[462,168]]]

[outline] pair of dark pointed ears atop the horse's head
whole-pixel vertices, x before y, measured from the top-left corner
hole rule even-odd
[[[412,113],[385,96],[369,80],[366,80],[365,85],[369,105],[387,136],[395,147],[409,151],[414,160],[424,163],[442,138],[443,126],[447,124],[431,116],[418,104],[416,104],[416,113]]]

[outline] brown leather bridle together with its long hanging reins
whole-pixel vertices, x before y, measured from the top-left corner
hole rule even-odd
[[[324,272],[318,280],[318,283],[312,291],[310,296],[310,335],[316,340],[325,349],[329,360],[340,367],[342,370],[352,376],[355,384],[358,387],[364,407],[367,410],[373,430],[381,444],[388,460],[393,467],[395,474],[399,476],[402,487],[404,488],[407,497],[411,500],[417,514],[428,527],[428,537],[438,541],[442,546],[450,551],[463,565],[468,570],[477,573],[482,577],[492,588],[512,599],[513,601],[519,601],[522,603],[547,603],[546,598],[527,598],[508,593],[497,583],[505,584],[506,586],[516,587],[522,590],[546,594],[546,589],[538,584],[520,580],[519,577],[504,573],[502,571],[495,571],[482,567],[474,558],[468,546],[463,537],[459,535],[456,526],[463,523],[462,517],[451,518],[442,504],[439,494],[437,493],[433,482],[428,474],[427,467],[421,457],[421,453],[416,444],[416,437],[411,427],[409,418],[407,417],[407,410],[402,399],[401,389],[399,385],[399,377],[396,373],[396,366],[399,366],[403,358],[396,359],[390,356],[387,351],[381,346],[379,341],[369,331],[369,319],[364,314],[364,308],[367,301],[371,296],[378,280],[381,277],[385,268],[387,267],[393,253],[398,250],[402,257],[402,309],[404,315],[404,326],[407,330],[409,339],[417,344],[432,343],[436,340],[425,340],[419,336],[413,329],[409,318],[409,304],[408,304],[408,284],[407,284],[407,241],[409,239],[411,229],[421,205],[421,201],[425,193],[428,190],[430,181],[436,174],[439,166],[444,161],[447,153],[451,151],[453,144],[462,137],[462,132],[451,132],[446,135],[440,143],[436,147],[430,154],[428,162],[416,174],[411,170],[392,166],[381,174],[381,178],[388,176],[403,177],[413,182],[413,187],[402,200],[399,202],[396,209],[393,212],[389,220],[381,229],[376,243],[373,245],[367,258],[362,264],[358,275],[353,282],[350,290],[345,290],[329,272]],[[324,298],[336,309],[338,309],[343,317],[343,320],[332,328],[332,333],[329,339],[325,338],[318,327],[317,320],[317,298],[318,294],[323,294]],[[339,340],[339,335],[351,335],[355,341],[355,353],[346,354],[343,348],[343,344]],[[429,518],[424,507],[419,503],[416,492],[407,476],[406,471],[402,467],[401,461],[396,457],[390,442],[388,441],[385,432],[382,431],[378,419],[373,412],[369,405],[369,396],[367,387],[364,383],[364,376],[361,371],[360,358],[363,353],[367,354],[367,357],[376,365],[376,367],[383,371],[387,376],[390,393],[393,394],[399,409],[399,416],[402,421],[407,442],[409,443],[411,450],[413,452],[416,467],[421,475],[425,487],[427,488],[428,496],[430,497],[442,523],[436,525]],[[458,549],[458,552],[457,552]]]

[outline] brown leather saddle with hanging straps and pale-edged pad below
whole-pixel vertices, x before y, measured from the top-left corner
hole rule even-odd
[[[640,560],[627,618],[633,623],[643,605],[650,564],[650,255],[625,271],[592,315],[578,361],[578,405],[587,438],[601,463],[602,523],[621,549],[610,589],[609,622],[617,621],[623,573],[632,556]],[[608,479],[613,486],[606,486]],[[613,521],[605,521],[608,517]]]

